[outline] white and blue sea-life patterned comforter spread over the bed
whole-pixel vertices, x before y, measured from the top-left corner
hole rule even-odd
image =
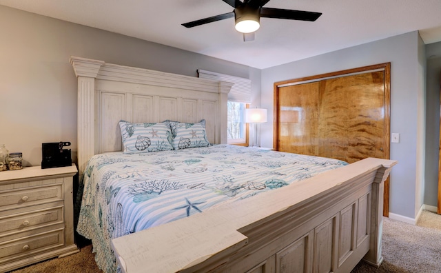
[[[86,167],[77,231],[96,263],[116,272],[110,241],[347,165],[316,156],[235,145],[97,154]]]

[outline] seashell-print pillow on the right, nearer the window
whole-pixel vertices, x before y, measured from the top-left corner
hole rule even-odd
[[[210,145],[205,132],[205,119],[199,123],[182,123],[165,121],[170,125],[175,150],[185,148],[207,147]]]

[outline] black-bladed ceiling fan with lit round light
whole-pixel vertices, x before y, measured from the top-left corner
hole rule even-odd
[[[219,14],[188,23],[183,23],[186,28],[201,26],[205,23],[228,19],[234,17],[236,21],[236,30],[243,33],[243,41],[254,40],[254,32],[260,27],[260,17],[316,21],[321,12],[307,12],[302,10],[283,10],[280,8],[263,8],[270,0],[223,0],[232,6],[232,12]]]

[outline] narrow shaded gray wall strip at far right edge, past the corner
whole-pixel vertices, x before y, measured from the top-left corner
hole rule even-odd
[[[438,204],[438,161],[440,144],[440,82],[441,82],[441,42],[426,45],[426,160],[424,204]]]

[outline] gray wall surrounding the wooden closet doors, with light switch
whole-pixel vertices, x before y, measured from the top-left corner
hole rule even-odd
[[[417,156],[423,151],[417,145],[418,123],[424,122],[418,114],[421,100],[422,77],[419,65],[418,32],[410,32],[389,39],[322,54],[316,57],[267,68],[262,71],[263,108],[269,109],[268,120],[273,118],[273,84],[276,81],[296,79],[365,65],[391,62],[391,132],[400,133],[400,143],[391,143],[391,159],[398,160],[391,172],[390,212],[415,219],[417,188],[423,185]],[[262,126],[264,147],[272,147],[273,123]]]

